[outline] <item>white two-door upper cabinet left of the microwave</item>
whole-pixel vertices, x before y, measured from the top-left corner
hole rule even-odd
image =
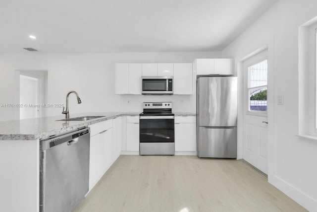
[[[115,94],[142,93],[142,64],[115,65]]]

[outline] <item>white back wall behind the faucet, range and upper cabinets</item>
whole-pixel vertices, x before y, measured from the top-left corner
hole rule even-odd
[[[195,58],[217,58],[220,52],[183,53],[10,53],[0,54],[0,104],[14,102],[15,70],[47,70],[47,103],[65,104],[68,91],[70,117],[74,113],[98,111],[142,111],[140,101],[170,100],[174,111],[195,112],[195,96],[172,97],[120,96],[114,94],[115,63],[192,63]],[[127,103],[130,100],[130,104]],[[184,103],[184,104],[183,104]],[[14,109],[0,108],[0,121],[14,119]],[[62,108],[50,108],[48,116],[60,115]]]

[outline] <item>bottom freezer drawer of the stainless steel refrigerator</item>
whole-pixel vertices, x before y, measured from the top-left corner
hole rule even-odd
[[[237,128],[199,127],[199,157],[237,158]]]

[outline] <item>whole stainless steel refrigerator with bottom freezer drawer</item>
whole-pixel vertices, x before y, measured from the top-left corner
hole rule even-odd
[[[237,157],[237,77],[197,79],[197,156]]]

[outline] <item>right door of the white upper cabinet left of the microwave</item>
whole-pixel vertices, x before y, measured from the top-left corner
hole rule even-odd
[[[142,93],[142,64],[129,64],[129,94]]]

